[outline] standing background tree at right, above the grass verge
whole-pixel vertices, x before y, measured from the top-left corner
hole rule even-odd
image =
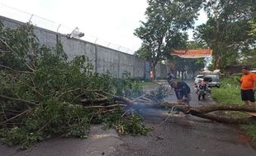
[[[249,35],[249,21],[255,16],[253,0],[210,0],[204,3],[206,24],[199,25],[195,39],[213,49],[216,69],[239,62],[240,54],[255,48],[255,36]]]

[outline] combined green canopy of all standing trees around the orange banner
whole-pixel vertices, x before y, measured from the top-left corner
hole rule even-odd
[[[148,60],[153,71],[162,61],[176,71],[199,71],[204,67],[203,59],[183,59],[170,52],[211,48],[211,71],[237,64],[255,67],[255,5],[253,0],[149,0],[145,21],[134,33],[142,40],[135,56]],[[201,9],[208,19],[195,27],[195,42],[188,42],[186,30],[194,29]]]

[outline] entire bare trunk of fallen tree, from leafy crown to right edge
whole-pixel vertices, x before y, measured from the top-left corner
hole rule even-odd
[[[145,98],[148,97],[148,98]],[[106,102],[105,98],[102,100]],[[114,99],[120,103],[125,103],[129,105],[131,108],[136,104],[150,104],[155,105],[159,103],[158,99],[155,99],[152,94],[144,94],[136,99],[127,99],[126,97],[117,97],[111,96],[111,100]],[[81,102],[88,104],[88,99],[83,99]],[[96,100],[97,101],[97,100]],[[98,102],[98,101],[97,101]],[[123,105],[123,106],[126,106]],[[192,116],[201,117],[205,119],[209,119],[216,122],[222,123],[232,123],[232,124],[249,124],[249,123],[256,123],[256,117],[252,117],[248,115],[248,117],[232,117],[227,116],[223,112],[229,111],[238,111],[238,112],[256,112],[256,108],[253,106],[245,106],[245,105],[236,105],[236,104],[229,104],[229,105],[220,105],[220,104],[211,104],[211,105],[204,105],[199,107],[188,107],[184,103],[171,103],[171,102],[164,102],[159,103],[159,105],[167,107],[167,108],[175,108],[176,110],[183,112],[185,114],[191,114]],[[218,112],[218,113],[214,113]],[[222,113],[221,113],[222,112]]]

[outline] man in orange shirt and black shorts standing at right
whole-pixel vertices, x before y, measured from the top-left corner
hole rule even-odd
[[[242,67],[243,76],[239,79],[241,84],[241,99],[245,105],[256,106],[254,93],[256,90],[256,75],[249,72],[248,67]]]

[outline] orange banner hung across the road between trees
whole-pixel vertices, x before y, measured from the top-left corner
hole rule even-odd
[[[196,50],[173,50],[172,55],[177,55],[183,58],[201,58],[201,57],[211,57],[211,49],[196,49]]]

